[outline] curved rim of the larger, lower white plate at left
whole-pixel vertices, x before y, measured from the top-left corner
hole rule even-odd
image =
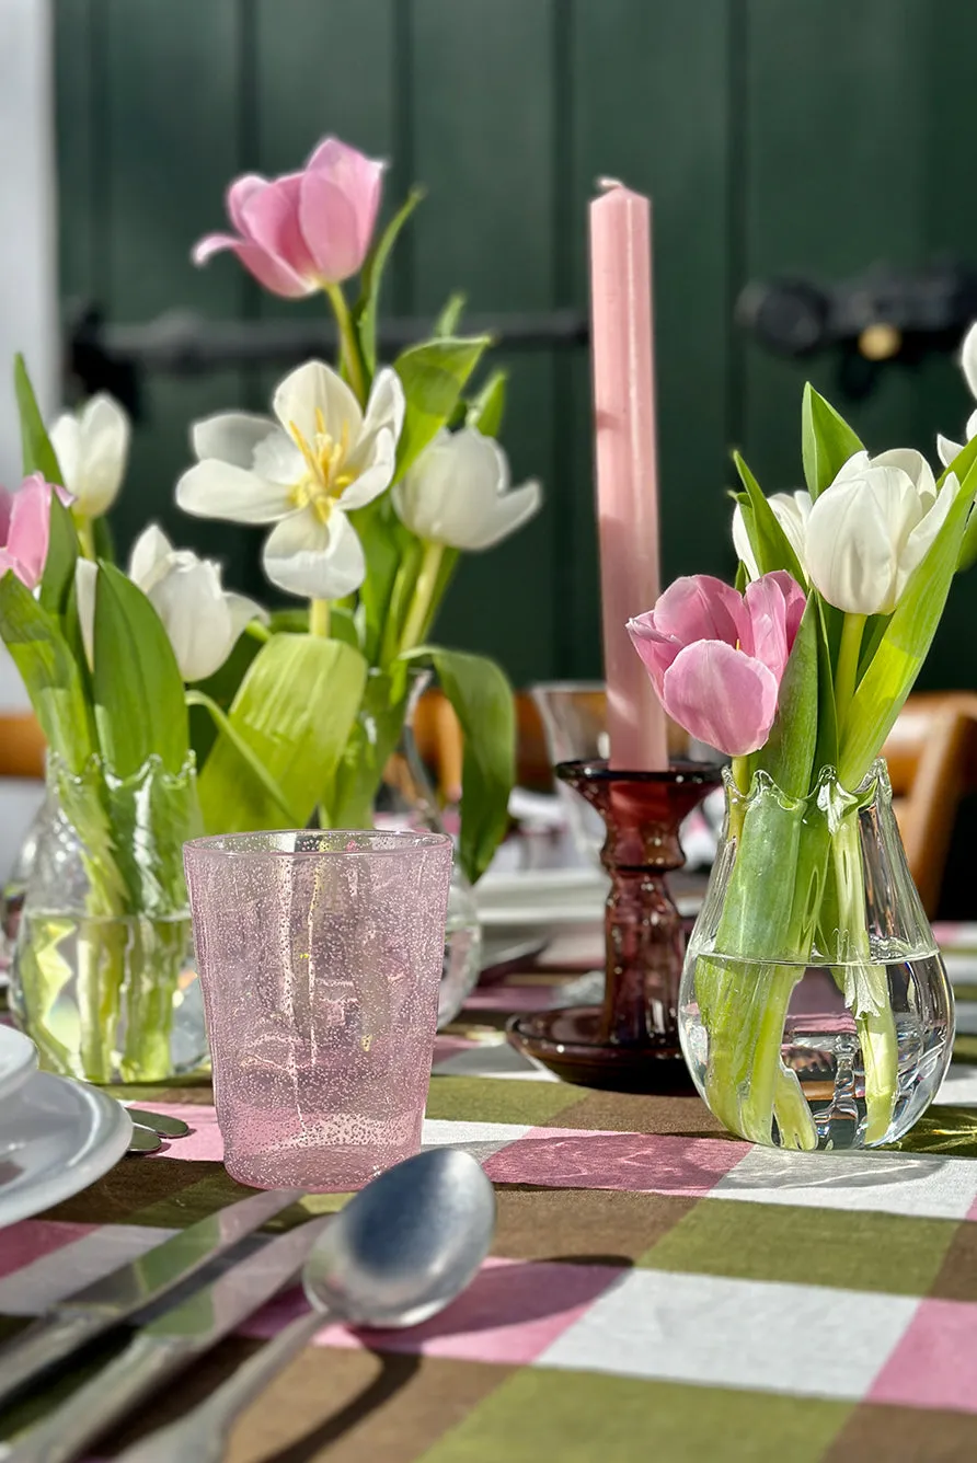
[[[4,1195],[3,1186],[0,1186],[0,1230],[22,1219],[42,1214],[54,1204],[80,1194],[118,1163],[129,1148],[132,1137],[133,1124],[126,1107],[98,1087],[72,1077],[60,1077],[57,1072],[35,1071],[20,1091],[26,1091],[35,1083],[51,1086],[54,1090],[76,1088],[80,1093],[91,1110],[88,1141],[80,1151],[72,1154],[47,1179],[28,1181],[13,1195]],[[7,1118],[6,1113],[0,1115],[0,1134],[4,1118]],[[13,1122],[15,1118],[16,1113],[10,1113],[7,1122]],[[91,1147],[92,1140],[95,1140],[94,1147]]]

